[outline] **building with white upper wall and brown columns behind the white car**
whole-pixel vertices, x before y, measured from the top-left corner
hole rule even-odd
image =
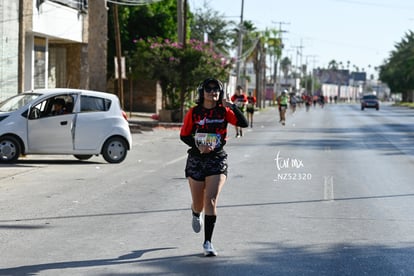
[[[106,90],[106,1],[0,0],[0,101],[37,88]]]

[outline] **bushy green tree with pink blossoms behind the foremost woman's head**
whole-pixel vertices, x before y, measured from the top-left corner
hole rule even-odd
[[[169,39],[148,38],[140,39],[136,46],[134,75],[160,81],[163,107],[180,108],[181,114],[194,83],[210,76],[226,79],[233,65],[232,60],[216,53],[210,43],[198,40],[190,40],[183,47]]]

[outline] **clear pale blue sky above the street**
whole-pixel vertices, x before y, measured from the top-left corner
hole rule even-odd
[[[190,9],[204,2],[228,20],[240,22],[242,0],[188,0]],[[331,60],[349,61],[368,75],[380,66],[408,31],[414,31],[413,0],[244,0],[243,19],[258,30],[283,30],[283,57],[292,64],[326,68]],[[282,22],[282,23],[279,23]],[[302,55],[297,55],[297,52]]]

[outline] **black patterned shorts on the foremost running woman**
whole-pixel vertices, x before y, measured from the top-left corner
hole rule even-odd
[[[185,177],[204,181],[206,176],[224,174],[227,176],[227,153],[192,155],[188,154]]]

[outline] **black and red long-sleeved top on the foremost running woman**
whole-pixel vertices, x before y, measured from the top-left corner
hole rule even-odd
[[[200,155],[197,144],[205,143],[214,147],[214,152],[223,150],[226,144],[228,123],[247,127],[243,113],[235,106],[217,106],[211,109],[202,106],[191,108],[184,118],[180,139],[191,149],[189,153]]]

